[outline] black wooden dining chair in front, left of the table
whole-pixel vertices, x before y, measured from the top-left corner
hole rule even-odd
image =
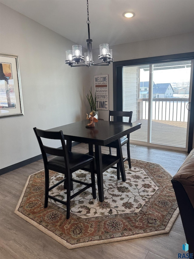
[[[76,152],[67,151],[65,145],[65,139],[62,131],[45,131],[37,128],[33,128],[35,135],[38,139],[38,143],[42,152],[42,158],[45,167],[45,204],[44,207],[48,207],[48,199],[53,199],[59,203],[62,203],[67,206],[66,218],[70,217],[70,200],[75,196],[79,195],[86,189],[92,187],[92,196],[93,199],[96,199],[96,188],[95,188],[95,174],[94,174],[94,157],[91,155],[80,154]],[[42,143],[43,139],[54,139],[61,141],[62,148],[53,148]],[[43,141],[44,142],[44,141]],[[54,155],[55,157],[48,160],[47,154]],[[91,173],[91,183],[81,182],[79,180],[72,178],[72,173],[90,165],[87,171]],[[64,179],[57,182],[55,185],[49,187],[49,170],[59,172],[64,174]],[[57,199],[54,196],[49,195],[49,191],[62,184],[64,182],[64,187],[67,191],[66,201]],[[71,189],[73,187],[73,182],[80,183],[85,185],[84,188],[80,189],[78,192],[71,195]]]

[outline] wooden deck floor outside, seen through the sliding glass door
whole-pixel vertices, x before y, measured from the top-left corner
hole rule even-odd
[[[130,143],[147,142],[148,120],[136,121],[142,123],[141,128],[130,134]],[[186,148],[187,122],[152,120],[151,143],[159,145]]]

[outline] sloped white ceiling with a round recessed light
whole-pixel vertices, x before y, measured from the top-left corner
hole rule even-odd
[[[1,3],[86,47],[86,0],[0,0]],[[123,12],[135,16],[126,19]],[[89,0],[93,48],[194,31],[194,0]]]

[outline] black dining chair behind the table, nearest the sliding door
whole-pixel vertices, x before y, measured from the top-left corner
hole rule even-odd
[[[123,121],[123,117],[129,117],[129,123],[131,123],[132,118],[132,111],[111,111],[109,110],[109,121],[111,121],[111,116],[114,116],[115,121],[119,121],[118,118],[120,118],[120,121]],[[128,160],[129,168],[131,168],[131,158],[130,158],[130,149],[129,149],[129,134],[127,136],[123,136],[120,138],[121,146],[127,144],[127,157],[123,159],[123,162]],[[109,147],[109,154],[112,155],[111,148],[116,148],[116,142],[113,141],[110,144],[106,145],[106,147]],[[117,166],[117,179],[120,179],[120,172],[119,168]]]

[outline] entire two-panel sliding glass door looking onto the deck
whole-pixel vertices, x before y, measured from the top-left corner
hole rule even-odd
[[[115,107],[133,111],[132,122],[142,123],[130,134],[131,143],[187,151],[193,135],[193,59],[125,65],[119,71],[116,85],[122,80],[122,94],[114,98]]]

